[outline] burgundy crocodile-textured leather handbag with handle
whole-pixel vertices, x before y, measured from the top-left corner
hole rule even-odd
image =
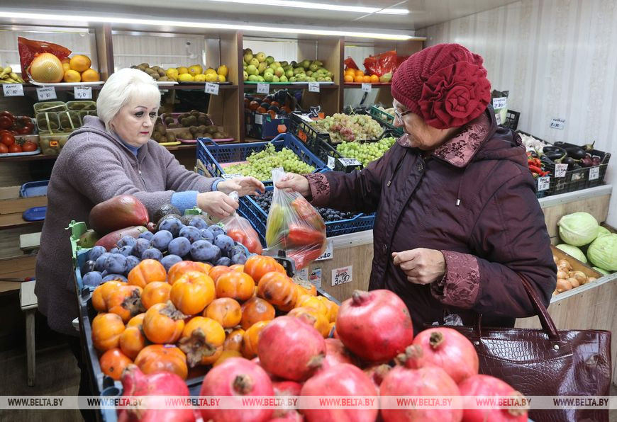
[[[504,380],[526,396],[608,396],[611,332],[557,330],[538,293],[522,275],[521,280],[542,329],[486,328],[482,316],[475,327],[450,326],[474,344],[480,373]],[[608,410],[538,410],[529,417],[535,422],[608,421]]]

